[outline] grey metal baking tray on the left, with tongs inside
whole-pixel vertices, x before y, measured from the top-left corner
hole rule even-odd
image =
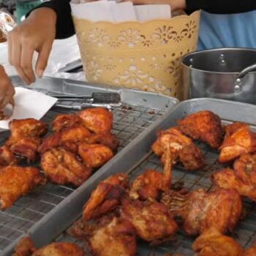
[[[18,77],[12,77],[11,80],[15,86],[24,86],[23,82]],[[155,121],[162,119],[165,112],[171,110],[178,103],[177,99],[158,94],[120,89],[99,84],[97,87],[94,87],[89,83],[59,78],[39,79],[33,86],[27,88],[41,91],[49,95],[91,94],[95,91],[117,91],[121,94],[121,102],[123,105],[111,110],[114,116],[112,132],[116,134],[121,145],[118,148],[119,153],[110,160],[108,165],[105,165],[97,171],[101,174],[110,171],[108,168],[113,165],[111,162],[116,162],[116,159],[121,157],[123,148],[131,143],[132,140],[135,140],[147,127],[154,124]],[[42,103],[39,102],[39,104]],[[77,103],[66,102],[66,104],[76,105]],[[31,106],[31,108],[33,108],[33,106]],[[70,112],[70,110],[52,108],[42,120],[50,124],[53,118],[60,113]],[[0,142],[4,143],[9,135],[9,132],[1,132]],[[37,163],[37,165],[39,165],[39,163]],[[75,190],[72,187],[58,186],[48,182],[46,186],[39,186],[29,195],[21,197],[11,208],[6,211],[0,211],[0,255],[5,255],[5,249],[12,244],[15,239],[22,236],[31,227],[36,228],[38,225],[37,222],[39,222],[40,219],[41,224],[46,222],[48,213],[56,208],[56,206],[60,205],[64,198],[79,192],[80,188]],[[72,216],[72,211],[67,211],[67,214]]]

